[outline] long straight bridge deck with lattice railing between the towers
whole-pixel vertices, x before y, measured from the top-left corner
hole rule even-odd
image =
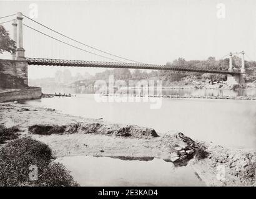
[[[28,65],[61,66],[61,67],[96,67],[96,68],[131,68],[149,70],[173,70],[182,72],[217,73],[240,75],[240,70],[212,70],[207,68],[185,67],[177,65],[155,65],[147,63],[97,62],[84,60],[62,60],[52,58],[26,58]]]

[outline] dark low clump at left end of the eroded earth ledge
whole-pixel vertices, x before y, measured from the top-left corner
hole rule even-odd
[[[51,134],[61,134],[65,132],[66,126],[58,125],[33,125],[29,126],[29,132],[32,134],[40,135],[51,135]]]

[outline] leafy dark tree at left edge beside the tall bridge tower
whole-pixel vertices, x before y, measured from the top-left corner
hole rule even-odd
[[[14,40],[12,40],[9,36],[9,32],[4,29],[2,25],[0,25],[0,53],[3,52],[15,52],[16,45]]]

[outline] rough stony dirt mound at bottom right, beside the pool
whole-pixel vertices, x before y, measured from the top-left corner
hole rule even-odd
[[[204,159],[197,157],[190,163],[209,186],[245,186],[255,183],[255,150],[227,149],[206,146]]]

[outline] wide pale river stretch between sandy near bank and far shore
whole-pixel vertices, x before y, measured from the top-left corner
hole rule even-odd
[[[145,102],[96,102],[94,95],[46,98],[27,104],[86,118],[152,127],[157,133],[180,131],[192,139],[222,146],[256,148],[256,101],[162,98],[160,109]]]

